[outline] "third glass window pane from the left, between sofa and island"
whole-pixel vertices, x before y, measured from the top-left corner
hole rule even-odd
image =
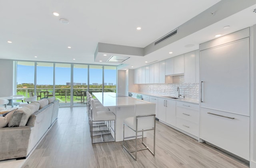
[[[55,64],[55,96],[61,106],[70,106],[71,64]]]

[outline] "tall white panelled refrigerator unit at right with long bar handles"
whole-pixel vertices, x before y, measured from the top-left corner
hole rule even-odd
[[[200,139],[249,160],[249,28],[200,45]]]

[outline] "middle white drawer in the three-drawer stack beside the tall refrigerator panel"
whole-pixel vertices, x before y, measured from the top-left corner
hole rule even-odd
[[[176,116],[195,123],[199,122],[199,111],[194,109],[176,106]]]

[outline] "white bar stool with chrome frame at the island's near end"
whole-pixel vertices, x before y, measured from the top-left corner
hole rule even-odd
[[[123,132],[123,147],[124,149],[134,158],[134,160],[137,160],[137,152],[140,150],[148,149],[154,156],[155,156],[155,146],[156,146],[156,104],[154,103],[147,103],[147,104],[135,104],[134,105],[134,117],[128,117],[124,119],[124,126],[132,129],[132,131],[135,132],[135,136],[133,137],[125,137]],[[149,115],[144,115],[144,111],[147,111],[147,113],[151,113]],[[123,127],[124,129],[125,127]],[[154,130],[154,150],[150,150],[146,144],[144,144],[143,141],[143,133],[144,131],[150,131]],[[138,133],[142,132],[142,144],[145,148],[138,149],[137,139],[140,137]],[[127,147],[125,147],[124,140],[130,139],[135,137],[135,150],[130,151]],[[132,155],[132,153],[135,152],[135,156]]]

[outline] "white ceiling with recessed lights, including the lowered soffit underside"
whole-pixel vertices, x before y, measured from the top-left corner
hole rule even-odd
[[[144,48],[219,1],[1,1],[0,59],[118,65],[94,61],[98,43]],[[125,68],[131,65],[136,68],[143,66],[144,61],[161,61],[196,50],[198,44],[214,39],[220,31],[225,35],[254,25],[256,14],[252,10],[255,8],[252,6],[236,16],[217,21],[144,57],[132,57],[125,61],[128,64]],[[69,20],[69,24],[60,23],[61,18]],[[223,29],[225,25],[230,28]],[[142,27],[140,31],[136,30],[138,26]],[[184,47],[187,44],[194,44],[194,47]],[[172,55],[168,54],[170,50]]]

